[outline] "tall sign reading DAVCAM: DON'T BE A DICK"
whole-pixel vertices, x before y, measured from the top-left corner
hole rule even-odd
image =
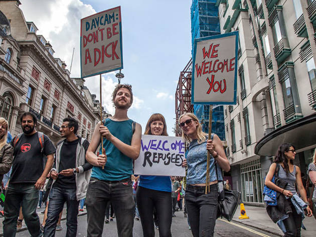
[[[81,77],[123,68],[121,7],[81,19]]]

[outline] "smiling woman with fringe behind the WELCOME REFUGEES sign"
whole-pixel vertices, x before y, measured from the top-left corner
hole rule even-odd
[[[168,136],[165,117],[160,113],[150,116],[145,135]],[[143,236],[154,236],[153,208],[156,209],[160,237],[170,237],[172,222],[170,176],[140,175],[136,191],[136,203],[140,215]]]

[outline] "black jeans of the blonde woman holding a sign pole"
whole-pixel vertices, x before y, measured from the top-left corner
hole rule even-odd
[[[193,236],[213,236],[218,208],[217,184],[210,185],[208,194],[205,187],[188,184],[185,202]]]

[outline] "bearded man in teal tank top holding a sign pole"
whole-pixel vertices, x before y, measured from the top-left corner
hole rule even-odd
[[[93,165],[86,197],[88,237],[102,236],[108,202],[113,205],[118,236],[133,235],[135,202],[131,175],[133,160],[140,151],[141,126],[127,117],[133,102],[131,85],[116,85],[112,102],[115,114],[97,124],[86,155]],[[100,155],[96,156],[101,136],[103,152],[100,146]]]

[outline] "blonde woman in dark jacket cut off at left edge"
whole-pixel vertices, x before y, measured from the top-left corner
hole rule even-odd
[[[13,161],[13,148],[7,143],[9,123],[0,117],[0,183],[4,174],[8,173]]]

